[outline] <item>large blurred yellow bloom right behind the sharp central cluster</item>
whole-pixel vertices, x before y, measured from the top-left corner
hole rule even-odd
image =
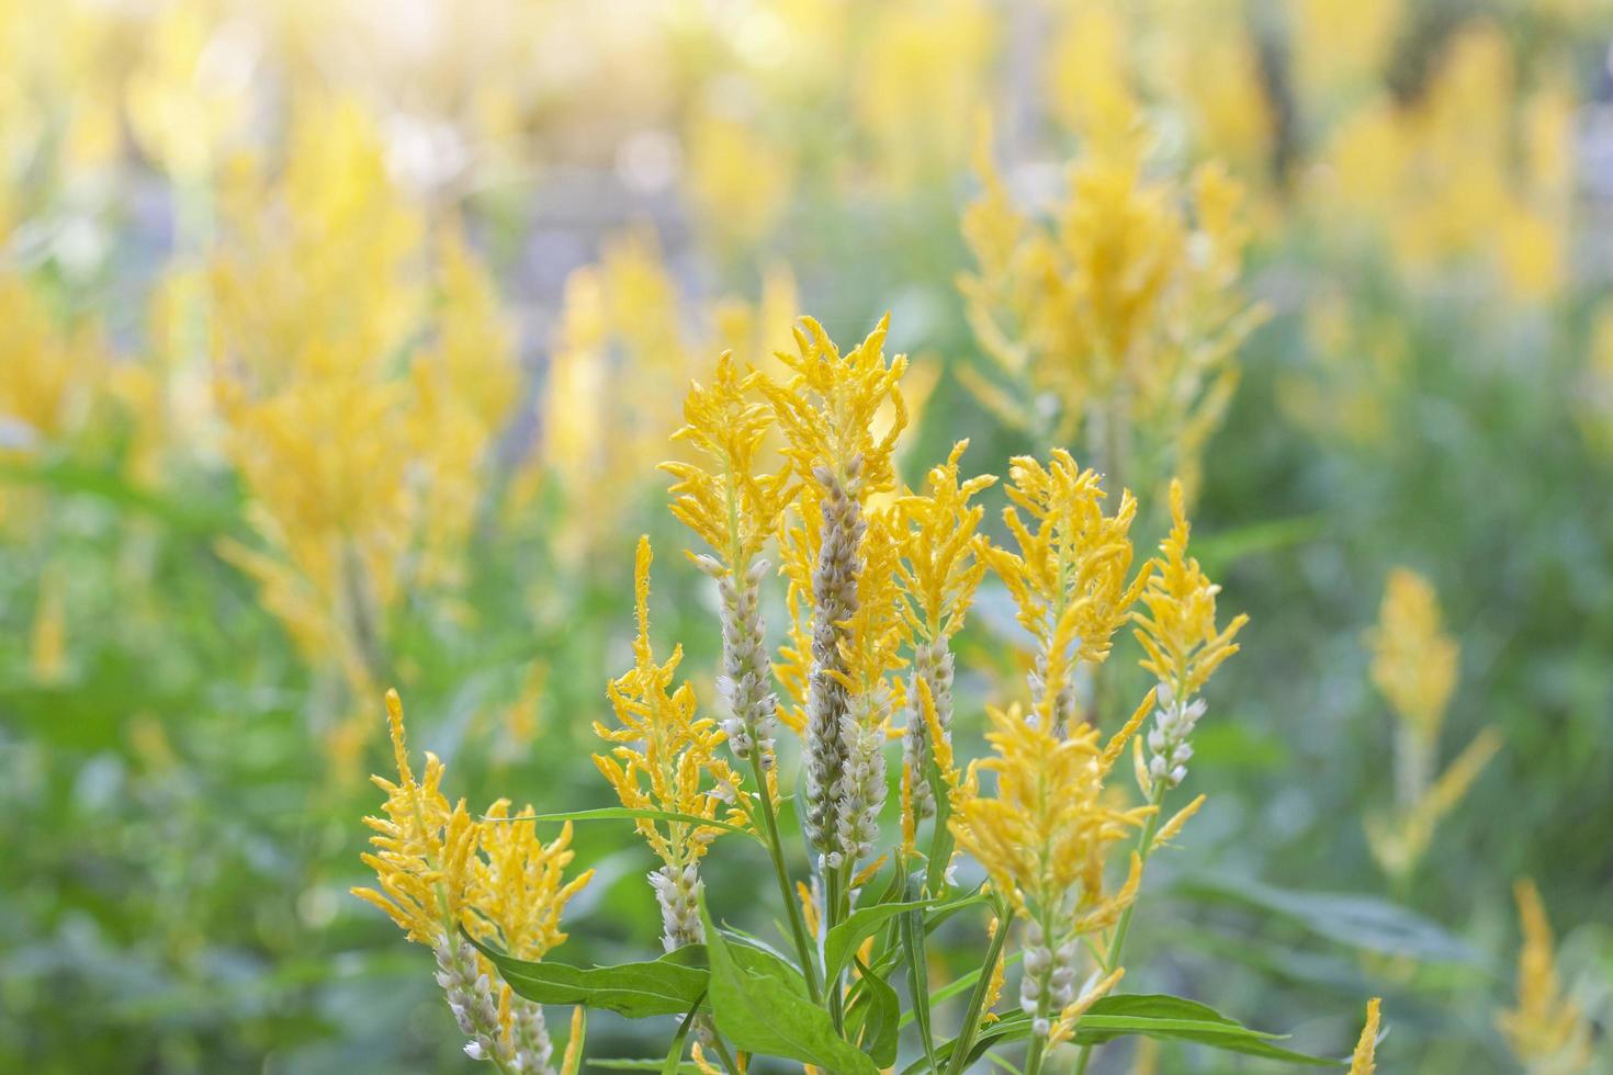
[[[1242,192],[1215,166],[1190,197],[1147,179],[1129,98],[1105,110],[1116,114],[1071,171],[1052,227],[1013,208],[982,140],[984,193],[963,216],[979,271],[958,285],[1007,384],[965,379],[1015,427],[1053,442],[1082,434],[1111,479],[1163,458],[1192,487],[1236,385],[1232,351],[1265,316],[1237,288]]]

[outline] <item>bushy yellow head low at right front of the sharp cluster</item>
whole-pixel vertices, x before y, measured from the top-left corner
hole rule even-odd
[[[1131,874],[1113,894],[1102,891],[1092,865],[1153,809],[1118,811],[1102,801],[1103,778],[1136,722],[1105,748],[1090,725],[1058,738],[1018,708],[990,708],[987,716],[986,740],[995,756],[973,762],[953,796],[960,846],[1018,914],[1057,927],[1057,943],[1113,925],[1136,894],[1142,862],[1132,856]],[[981,791],[982,772],[995,775],[990,796]]]

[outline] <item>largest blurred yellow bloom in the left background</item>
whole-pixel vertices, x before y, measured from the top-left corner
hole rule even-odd
[[[373,119],[311,102],[290,139],[277,179],[224,184],[208,337],[258,535],[224,553],[310,664],[365,696],[402,595],[463,582],[521,374],[492,279],[455,229],[426,242]]]

